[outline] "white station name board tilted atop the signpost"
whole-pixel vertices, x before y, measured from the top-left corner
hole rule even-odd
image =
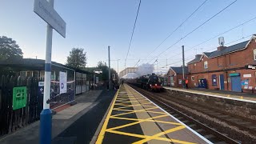
[[[34,0],[34,13],[66,38],[66,22],[58,15],[53,6],[46,0]]]

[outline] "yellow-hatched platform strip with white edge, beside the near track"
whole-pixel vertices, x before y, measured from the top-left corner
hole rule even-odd
[[[211,143],[124,84],[115,95],[96,143]],[[94,142],[91,142],[94,143]]]

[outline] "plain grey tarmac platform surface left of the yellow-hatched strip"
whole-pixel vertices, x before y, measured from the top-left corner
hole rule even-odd
[[[116,90],[91,90],[78,95],[74,106],[55,114],[52,119],[52,143],[90,143]],[[34,122],[13,134],[0,138],[1,144],[39,143],[40,122]]]

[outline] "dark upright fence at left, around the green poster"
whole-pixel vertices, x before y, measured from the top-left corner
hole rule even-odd
[[[35,122],[42,111],[42,96],[38,94],[38,82],[43,79],[21,76],[0,76],[0,137]],[[14,87],[26,86],[26,106],[13,109]]]

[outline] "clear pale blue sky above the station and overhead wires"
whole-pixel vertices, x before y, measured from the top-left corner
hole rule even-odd
[[[159,46],[204,1],[142,0],[126,66],[149,62],[155,71],[167,70],[182,65],[182,46],[189,62],[195,54],[217,50],[218,37],[213,37],[218,34],[225,38],[225,46],[231,46],[256,33],[254,0],[208,0]],[[66,22],[66,38],[54,30],[52,61],[65,64],[70,50],[79,47],[86,51],[87,66],[97,66],[99,61],[108,62],[110,46],[110,66],[123,70],[138,3],[139,0],[55,0],[54,9]],[[34,0],[0,0],[0,35],[13,38],[24,58],[45,59],[46,22],[33,10]],[[238,26],[252,18],[255,19]],[[194,30],[203,22],[206,23]],[[238,27],[230,30],[234,26]],[[222,34],[226,30],[230,31]],[[198,45],[202,42],[205,43]]]

